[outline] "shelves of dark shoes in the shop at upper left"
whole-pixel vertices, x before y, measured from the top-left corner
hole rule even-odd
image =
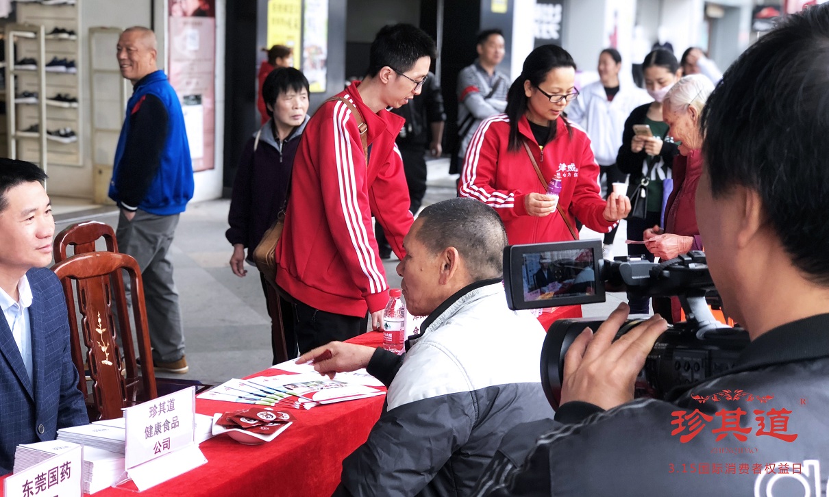
[[[78,101],[81,93],[79,1],[17,1],[19,25],[40,28],[34,38],[18,37],[16,43],[15,126],[12,127],[11,119],[7,120],[9,129],[16,132],[17,158],[41,162],[39,159],[43,157],[44,164],[83,165],[78,136],[82,129]],[[7,60],[10,60],[8,50]],[[34,89],[38,78],[42,84]],[[7,98],[11,99],[11,95]],[[37,128],[32,128],[33,124]],[[41,147],[42,150],[37,150]]]

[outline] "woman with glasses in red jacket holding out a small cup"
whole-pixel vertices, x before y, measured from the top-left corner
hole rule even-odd
[[[599,195],[590,140],[561,115],[579,94],[574,80],[567,51],[539,46],[509,89],[507,113],[482,121],[469,144],[460,195],[495,208],[510,244],[577,239],[576,217],[607,233],[630,212],[626,196]]]

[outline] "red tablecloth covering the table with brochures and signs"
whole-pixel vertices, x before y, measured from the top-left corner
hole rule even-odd
[[[547,329],[553,321],[565,317],[581,317],[581,307],[557,307],[552,312],[542,313],[538,319]],[[376,347],[382,340],[382,333],[369,332],[348,341]],[[283,373],[278,369],[265,369],[250,377]],[[260,446],[245,446],[225,436],[211,438],[201,443],[206,465],[141,495],[331,495],[340,482],[342,460],[366,441],[371,427],[380,417],[384,401],[385,396],[380,396],[318,406],[308,411],[292,410],[297,421],[273,442]],[[246,407],[248,404],[196,398],[196,412],[208,416]],[[109,488],[95,497],[136,495],[128,490]]]

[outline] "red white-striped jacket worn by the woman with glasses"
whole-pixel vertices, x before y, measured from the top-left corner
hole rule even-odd
[[[589,229],[606,233],[615,223],[604,219],[606,202],[599,195],[599,166],[590,150],[590,139],[578,126],[567,132],[563,119],[556,120],[556,134],[543,149],[533,137],[530,123],[521,116],[518,132],[531,143],[531,151],[545,181],[561,174],[559,205],[575,229],[575,217]],[[481,200],[495,208],[507,228],[510,244],[536,244],[572,240],[570,230],[556,211],[545,217],[526,212],[524,198],[533,191],[546,193],[524,147],[507,150],[510,123],[507,114],[482,121],[467,149],[460,195]],[[578,235],[578,233],[577,233]]]

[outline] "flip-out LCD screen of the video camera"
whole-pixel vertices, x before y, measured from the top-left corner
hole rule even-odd
[[[596,240],[507,247],[504,282],[510,308],[604,302],[604,282],[597,278],[601,249]]]

